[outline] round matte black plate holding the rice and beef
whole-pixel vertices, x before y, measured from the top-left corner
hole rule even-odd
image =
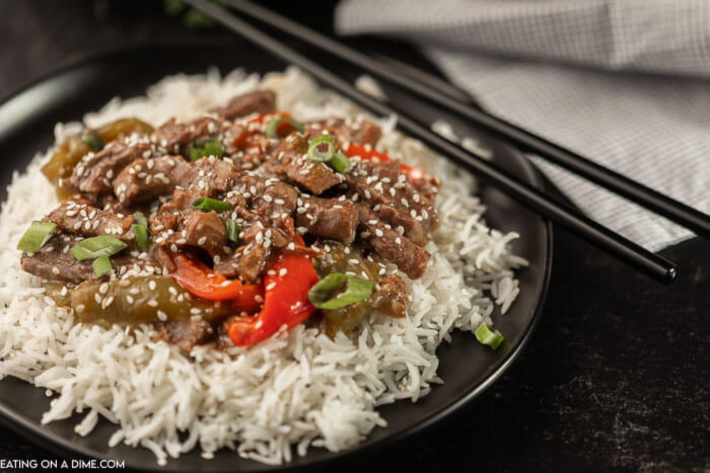
[[[245,67],[256,72],[284,67],[278,60],[239,42],[221,46],[192,44],[179,48],[175,45],[151,46],[84,62],[16,94],[0,106],[0,149],[12,150],[3,156],[0,200],[6,198],[6,185],[11,182],[12,172],[24,169],[35,152],[44,150],[52,143],[56,122],[80,119],[85,112],[97,110],[114,96],[143,94],[148,85],[166,74],[204,72],[211,65],[216,65],[222,72],[234,67]],[[407,96],[387,91],[392,100],[420,116],[447,118]],[[457,128],[466,133],[465,128]],[[520,154],[499,143],[485,141],[484,145],[494,150],[493,159],[510,172],[542,187],[539,174]],[[508,350],[493,352],[479,345],[471,333],[454,333],[453,343],[444,343],[439,348],[439,376],[445,382],[442,386],[436,386],[431,394],[416,404],[402,401],[381,407],[379,411],[388,422],[388,428],[376,428],[358,447],[339,453],[314,449],[306,457],[296,457],[288,467],[305,467],[342,458],[425,428],[476,398],[518,357],[542,311],[550,278],[552,230],[550,223],[496,189],[484,187],[482,197],[489,206],[488,223],[501,230],[520,233],[515,250],[530,262],[530,267],[518,274],[521,287],[518,300],[506,316],[495,319],[510,343]],[[198,452],[190,452],[178,460],[169,460],[165,467],[158,467],[155,457],[148,450],[126,445],[109,448],[107,439],[115,426],[108,421],[100,421],[87,437],[74,433],[80,416],[41,425],[40,418],[48,407],[49,400],[44,395],[44,389],[12,377],[0,381],[0,420],[32,442],[60,455],[119,459],[126,461],[126,467],[175,472],[263,472],[277,469],[242,460],[229,450],[218,452],[213,460],[203,460]]]

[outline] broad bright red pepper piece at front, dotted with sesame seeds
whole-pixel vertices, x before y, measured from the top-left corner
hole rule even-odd
[[[298,236],[296,243],[303,245]],[[253,317],[236,317],[229,327],[229,339],[238,347],[246,347],[271,337],[285,325],[287,330],[309,318],[316,308],[308,299],[308,291],[318,282],[310,258],[298,253],[279,255],[263,277],[264,304]]]

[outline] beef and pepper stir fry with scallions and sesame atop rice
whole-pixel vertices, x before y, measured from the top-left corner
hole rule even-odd
[[[361,119],[301,123],[271,91],[189,123],[85,129],[43,167],[60,204],[21,238],[22,267],[77,321],[150,324],[185,352],[404,317],[439,182],[380,137]]]

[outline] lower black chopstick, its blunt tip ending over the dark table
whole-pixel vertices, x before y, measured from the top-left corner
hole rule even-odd
[[[320,82],[332,87],[332,89],[355,101],[360,106],[371,111],[371,113],[378,116],[397,115],[398,128],[403,130],[404,133],[418,138],[435,152],[449,157],[449,159],[457,162],[457,164],[470,172],[481,175],[486,178],[487,182],[495,185],[498,189],[525,204],[525,206],[577,233],[577,235],[589,240],[590,243],[610,255],[618,257],[620,260],[655,277],[661,282],[669,283],[675,278],[677,269],[672,262],[645,250],[645,248],[601,226],[581,213],[556,204],[555,201],[552,201],[535,187],[525,182],[520,182],[508,174],[504,169],[498,167],[496,163],[481,159],[481,157],[471,154],[471,152],[464,150],[459,145],[432,133],[427,126],[415,121],[405,113],[402,113],[402,111],[382,104],[371,96],[362,93],[346,80],[307,57],[300,55],[300,53],[284,43],[271,38],[271,36],[251,26],[251,24],[234,17],[228,11],[215,6],[207,0],[185,0],[185,2],[200,9],[207,16],[222,23],[235,33],[244,36],[251,43],[271,52],[271,54],[280,57],[286,62],[299,66],[319,79]]]

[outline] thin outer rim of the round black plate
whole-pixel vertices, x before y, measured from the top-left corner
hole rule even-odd
[[[214,38],[213,38],[214,39]],[[234,42],[230,46],[235,46],[239,45],[241,42]],[[0,99],[0,110],[2,108],[5,108],[9,104],[11,104],[12,101],[18,99],[19,97],[28,94],[32,91],[32,89],[35,89],[37,87],[41,87],[45,82],[49,82],[53,79],[56,79],[58,76],[62,74],[66,74],[68,72],[72,72],[73,69],[79,69],[80,67],[85,67],[87,65],[90,65],[92,62],[97,62],[100,60],[108,60],[111,56],[116,56],[120,54],[131,54],[132,52],[139,52],[141,50],[146,50],[146,49],[151,49],[151,48],[179,48],[180,46],[192,46],[192,47],[202,47],[202,46],[209,46],[209,45],[214,45],[214,44],[219,44],[220,46],[226,46],[224,42],[220,41],[214,41],[214,40],[205,40],[205,41],[197,41],[194,38],[188,39],[188,40],[166,40],[166,41],[155,41],[153,43],[138,43],[138,44],[132,44],[132,45],[127,45],[127,46],[122,46],[122,47],[116,47],[116,48],[107,48],[104,50],[101,50],[99,52],[96,52],[91,55],[87,55],[85,57],[82,57],[80,60],[76,60],[74,62],[69,62],[65,65],[62,65],[58,68],[53,69],[50,72],[47,72],[45,74],[41,74],[39,77],[36,79],[33,79],[31,82],[28,82],[25,84],[23,87],[16,89],[15,91],[11,92],[8,96],[5,96],[4,99]],[[12,133],[12,128],[9,128],[9,133]],[[0,138],[2,138],[0,136]],[[500,140],[496,140],[498,143],[498,146],[501,148],[506,148],[506,151],[509,152],[511,155],[515,155],[516,160],[520,162],[520,165],[523,167],[525,170],[525,174],[527,174],[528,179],[530,179],[532,185],[536,187],[537,189],[543,190],[543,191],[549,191],[550,189],[550,184],[547,184],[546,179],[544,177],[544,174],[540,171],[539,167],[537,167],[531,160],[528,159],[522,152],[515,150],[512,146],[508,145],[507,143],[503,143]],[[18,169],[12,169],[12,171],[16,171]],[[471,389],[466,392],[464,396],[460,396],[457,399],[454,399],[447,404],[444,404],[444,406],[440,409],[438,409],[435,413],[430,414],[429,416],[422,418],[421,421],[417,421],[415,425],[413,425],[411,428],[408,428],[406,430],[401,430],[398,433],[393,433],[391,435],[388,435],[384,438],[377,439],[371,443],[359,443],[358,445],[355,445],[354,447],[350,447],[346,450],[341,450],[339,452],[329,452],[328,457],[324,457],[321,460],[317,460],[315,462],[311,462],[308,464],[289,464],[289,463],[284,463],[280,465],[276,465],[275,469],[271,465],[263,465],[266,467],[263,471],[276,471],[278,470],[288,470],[288,471],[297,471],[301,469],[306,469],[309,467],[322,467],[327,464],[333,464],[335,462],[341,462],[342,460],[345,460],[346,458],[351,457],[351,455],[354,454],[359,454],[359,453],[368,453],[371,454],[372,452],[376,450],[380,450],[383,447],[386,447],[388,445],[392,445],[393,443],[399,442],[405,438],[408,438],[412,435],[416,435],[417,433],[422,432],[422,430],[426,430],[427,428],[430,428],[433,424],[442,421],[444,418],[447,418],[448,416],[452,415],[455,411],[459,410],[460,408],[464,408],[464,406],[467,406],[474,402],[481,394],[484,393],[492,384],[494,384],[502,375],[505,373],[508,369],[510,369],[510,366],[512,366],[520,357],[521,352],[525,349],[525,347],[528,345],[530,338],[532,338],[532,335],[535,333],[535,329],[537,328],[537,324],[540,321],[540,318],[542,316],[542,313],[545,310],[545,303],[547,302],[547,294],[550,289],[550,279],[551,279],[551,274],[552,274],[552,262],[553,262],[553,254],[554,254],[554,236],[553,236],[553,225],[552,221],[550,219],[542,217],[542,223],[543,223],[543,228],[545,229],[545,245],[544,245],[544,252],[545,252],[545,257],[544,257],[544,264],[542,267],[542,272],[541,272],[541,279],[542,279],[542,284],[540,286],[540,291],[537,294],[537,298],[535,299],[535,308],[532,311],[532,316],[530,318],[530,323],[525,327],[525,330],[523,331],[523,335],[520,337],[520,340],[518,341],[518,344],[512,347],[510,351],[508,351],[504,355],[504,360],[501,362],[500,365],[498,365],[495,369],[493,369],[493,372],[491,374],[488,374],[486,379],[484,379],[483,382],[478,384],[474,389]],[[6,375],[6,377],[11,377],[11,375]],[[14,378],[14,377],[11,377]],[[21,382],[24,382],[23,380],[19,379]],[[2,379],[0,379],[0,382]],[[33,386],[34,389],[42,389],[37,386]],[[4,425],[5,427],[13,430],[14,432],[18,433],[18,435],[21,435],[23,438],[26,438],[26,440],[30,441],[31,443],[35,443],[36,445],[40,445],[41,447],[46,448],[47,450],[50,450],[50,452],[55,453],[56,455],[60,457],[68,457],[70,454],[78,454],[81,455],[82,457],[85,458],[96,458],[97,460],[116,460],[116,457],[111,456],[111,455],[105,455],[102,452],[97,452],[96,450],[92,450],[90,447],[87,447],[82,444],[78,443],[72,443],[72,441],[68,438],[65,438],[62,435],[59,435],[57,433],[53,433],[50,430],[42,429],[38,427],[37,424],[35,424],[33,421],[27,419],[25,416],[22,416],[19,413],[16,413],[12,408],[6,405],[4,401],[0,399],[0,424]],[[160,465],[155,463],[153,467],[145,467],[142,464],[132,464],[129,459],[123,458],[121,460],[125,461],[125,466],[126,468],[129,469],[138,469],[140,471],[155,471],[155,472],[169,472],[171,471],[169,467],[161,467]],[[209,460],[204,460],[206,465],[209,465]],[[201,471],[211,471],[209,469],[209,466],[206,469],[201,469]]]

